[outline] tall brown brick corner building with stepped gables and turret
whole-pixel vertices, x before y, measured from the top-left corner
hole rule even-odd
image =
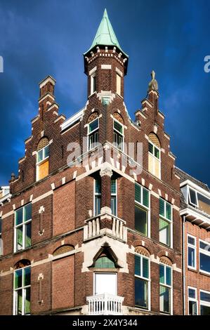
[[[183,314],[180,178],[155,72],[129,117],[128,62],[105,11],[84,53],[84,108],[66,119],[55,79],[39,84],[0,206],[1,315]]]

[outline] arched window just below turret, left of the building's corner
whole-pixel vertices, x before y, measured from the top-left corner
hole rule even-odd
[[[98,129],[98,112],[93,112],[88,118],[88,150],[91,150],[98,145]]]

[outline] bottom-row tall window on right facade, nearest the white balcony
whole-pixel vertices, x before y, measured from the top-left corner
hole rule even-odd
[[[150,309],[150,259],[135,254],[135,305]]]

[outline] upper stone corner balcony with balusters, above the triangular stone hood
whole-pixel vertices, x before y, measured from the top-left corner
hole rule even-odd
[[[103,235],[114,237],[127,242],[126,222],[117,216],[100,214],[85,220],[84,241]]]

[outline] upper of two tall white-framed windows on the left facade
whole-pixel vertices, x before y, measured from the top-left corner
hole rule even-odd
[[[15,211],[15,252],[32,244],[32,204]]]

